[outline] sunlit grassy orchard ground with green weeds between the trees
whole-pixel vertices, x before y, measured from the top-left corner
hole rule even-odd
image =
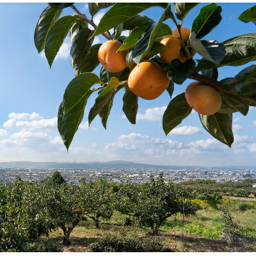
[[[196,212],[194,216],[182,214],[168,218],[159,230],[159,239],[175,252],[226,252],[227,243],[221,239],[223,223],[221,222],[221,209],[228,207],[234,221],[242,227],[236,234],[232,250],[235,252],[256,252],[256,202],[250,201],[253,209],[241,211],[239,205],[246,200],[223,199],[223,204],[218,210],[212,207]],[[93,221],[81,221],[70,235],[71,244],[63,246],[63,252],[90,252],[89,245],[97,241],[104,234],[132,233],[140,237],[152,237],[150,230],[140,227],[135,223],[131,227],[125,226],[123,214],[115,212],[111,219],[103,220],[100,228],[95,228]],[[61,246],[63,232],[61,229],[51,232],[49,237],[44,237]]]

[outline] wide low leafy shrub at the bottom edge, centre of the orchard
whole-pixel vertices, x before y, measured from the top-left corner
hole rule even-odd
[[[92,252],[172,252],[156,237],[140,237],[132,232],[112,232],[104,234],[90,244]]]

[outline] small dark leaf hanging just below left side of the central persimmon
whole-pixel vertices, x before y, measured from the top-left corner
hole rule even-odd
[[[136,124],[136,115],[138,111],[138,96],[135,95],[128,86],[125,86],[123,97],[123,111],[131,124]]]

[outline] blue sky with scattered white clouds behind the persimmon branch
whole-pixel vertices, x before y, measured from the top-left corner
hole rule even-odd
[[[184,27],[191,28],[204,5],[199,4],[189,13]],[[253,6],[252,3],[220,5],[223,7],[223,19],[204,39],[222,42],[233,36],[255,33],[252,22],[246,24],[237,19],[241,12]],[[255,109],[250,108],[247,116],[234,114],[235,142],[230,149],[204,130],[194,112],[165,136],[161,119],[170,102],[166,92],[156,100],[140,99],[136,125],[124,118],[123,92],[119,92],[109,116],[107,131],[99,117],[93,120],[90,128],[86,124],[88,111],[94,102],[92,97],[88,100],[84,120],[67,154],[58,134],[56,116],[63,92],[74,78],[74,71],[68,56],[69,38],[65,40],[51,69],[44,54],[36,51],[33,33],[38,17],[46,6],[47,3],[0,4],[0,161],[86,162],[122,159],[151,164],[255,165]],[[77,3],[76,6],[89,15],[87,4]],[[161,8],[152,8],[143,14],[157,20],[162,11]],[[95,15],[95,23],[99,22],[104,12],[106,10]],[[73,10],[67,8],[62,15],[72,13]],[[171,20],[166,22],[174,28]],[[104,42],[102,36],[96,40]],[[219,79],[233,77],[242,69],[220,68]],[[95,72],[99,74],[99,67]],[[189,83],[191,81],[188,80],[183,85],[175,85],[173,94],[184,92]]]

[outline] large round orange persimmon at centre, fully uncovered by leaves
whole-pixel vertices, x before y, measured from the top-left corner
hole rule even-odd
[[[169,84],[165,70],[154,61],[143,61],[128,77],[128,86],[137,96],[152,100],[159,97]]]

